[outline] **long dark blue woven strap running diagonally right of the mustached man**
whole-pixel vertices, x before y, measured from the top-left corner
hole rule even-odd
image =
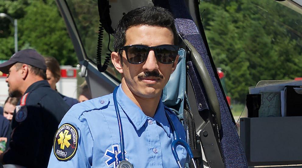
[[[224,100],[218,81],[215,78],[215,73],[217,72],[214,72],[211,67],[207,50],[198,31],[198,28],[192,20],[183,0],[169,0],[169,5],[171,12],[176,18],[175,25],[178,33],[182,36],[183,39],[187,39],[196,48],[211,76],[211,80],[215,88],[220,106],[222,124],[222,129],[220,130],[220,145],[224,159],[224,165],[227,168],[247,167],[247,160],[236,128],[232,122],[229,108],[227,107],[227,104]]]

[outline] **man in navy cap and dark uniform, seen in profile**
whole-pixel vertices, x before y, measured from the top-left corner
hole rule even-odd
[[[0,64],[7,73],[11,97],[21,97],[12,118],[9,148],[1,155],[3,164],[47,167],[59,122],[69,106],[46,79],[44,58],[24,49]]]

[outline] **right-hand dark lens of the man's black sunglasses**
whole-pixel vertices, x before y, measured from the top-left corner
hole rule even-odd
[[[156,49],[156,57],[163,64],[171,64],[177,56],[177,49],[173,46],[158,46]]]

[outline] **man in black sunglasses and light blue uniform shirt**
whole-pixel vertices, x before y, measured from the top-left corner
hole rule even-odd
[[[173,53],[169,53],[172,58],[155,57],[155,50],[158,56],[163,56],[160,49],[174,44],[177,45],[177,36],[173,16],[163,8],[134,9],[123,16],[116,28],[115,52],[111,53],[111,60],[122,75],[116,97],[125,157],[135,168],[178,167],[171,150],[173,134],[166,113],[182,139],[185,139],[185,131],[177,116],[161,100],[162,89],[176,68],[178,48],[174,58]],[[144,46],[122,48],[129,45]],[[148,46],[159,47],[142,53],[141,47],[148,49]],[[126,52],[128,58],[134,58],[127,59]],[[138,63],[140,60],[144,61]],[[169,61],[169,64],[159,60]],[[122,161],[120,149],[119,126],[111,93],[69,109],[55,134],[48,167],[115,168]],[[187,152],[178,146],[177,153],[183,166]]]

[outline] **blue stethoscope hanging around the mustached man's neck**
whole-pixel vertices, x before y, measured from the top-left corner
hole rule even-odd
[[[127,161],[125,158],[123,126],[122,126],[121,116],[119,115],[119,107],[118,107],[117,100],[116,100],[116,92],[117,92],[118,88],[119,88],[119,86],[115,87],[115,89],[113,90],[113,103],[114,103],[115,112],[116,112],[116,116],[117,116],[117,122],[119,124],[119,140],[120,140],[120,144],[121,144],[121,153],[122,153],[122,161],[119,162],[117,168],[133,168],[133,165],[129,161]],[[173,125],[173,122],[172,122],[170,116],[167,113],[166,113],[166,116],[167,116],[168,122],[171,126],[171,130],[173,132],[173,137],[174,137],[174,140],[172,141],[172,144],[171,144],[172,153],[174,155],[174,158],[175,158],[179,168],[182,168],[182,167],[180,165],[179,158],[176,153],[176,147],[178,145],[182,145],[187,150],[187,153],[189,154],[190,159],[193,162],[194,168],[197,168],[196,164],[194,162],[193,153],[192,153],[192,150],[191,150],[189,144],[186,141],[179,138],[179,135],[175,130],[175,127]]]

